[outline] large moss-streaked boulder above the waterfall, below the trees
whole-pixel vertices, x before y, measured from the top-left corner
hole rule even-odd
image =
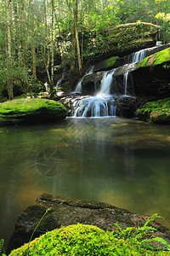
[[[158,29],[159,26],[151,23],[136,22],[112,26],[99,32],[99,35],[84,32],[84,57],[88,61],[97,61],[152,47],[156,45]]]

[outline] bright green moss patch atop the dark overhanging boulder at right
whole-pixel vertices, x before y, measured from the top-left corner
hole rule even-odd
[[[170,48],[163,49],[160,52],[157,52],[154,55],[150,55],[144,59],[144,61],[140,61],[137,65],[139,67],[148,67],[148,66],[156,66],[164,62],[170,61]]]

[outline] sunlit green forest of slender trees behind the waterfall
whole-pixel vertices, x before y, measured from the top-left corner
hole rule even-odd
[[[159,39],[170,42],[168,0],[0,0],[0,100],[28,92],[54,90],[54,74],[70,70],[81,76],[90,45],[83,40],[112,26],[151,22],[160,26]],[[105,47],[105,45],[104,45]],[[88,49],[89,48],[89,49]],[[93,53],[92,57],[93,57]],[[92,60],[92,59],[91,59]]]

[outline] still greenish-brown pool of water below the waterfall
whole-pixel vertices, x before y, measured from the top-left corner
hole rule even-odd
[[[44,192],[158,213],[170,228],[169,131],[120,118],[0,128],[0,238]]]

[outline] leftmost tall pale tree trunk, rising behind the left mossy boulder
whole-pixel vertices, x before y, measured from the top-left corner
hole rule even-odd
[[[9,15],[9,8],[10,2],[6,0],[7,5],[7,27],[8,27],[8,98],[12,100],[14,98],[13,95],[13,66],[12,66],[12,55],[11,55],[11,28],[10,28],[10,15]]]

